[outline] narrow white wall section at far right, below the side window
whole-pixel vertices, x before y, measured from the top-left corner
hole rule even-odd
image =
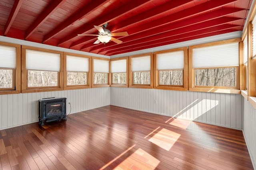
[[[243,134],[247,148],[252,159],[252,164],[256,169],[256,109],[243,99]]]

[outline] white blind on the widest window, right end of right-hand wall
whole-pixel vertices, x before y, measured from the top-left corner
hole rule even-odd
[[[193,49],[193,68],[212,68],[238,65],[238,42]]]

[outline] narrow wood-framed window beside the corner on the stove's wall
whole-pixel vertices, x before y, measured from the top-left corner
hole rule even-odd
[[[93,58],[93,85],[94,87],[109,86],[109,59]]]

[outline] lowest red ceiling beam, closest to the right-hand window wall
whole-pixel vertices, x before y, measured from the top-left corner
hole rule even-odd
[[[198,30],[198,31],[186,33],[183,35],[177,35],[172,38],[161,39],[160,41],[156,40],[155,42],[152,42],[152,44],[144,43],[141,45],[134,45],[133,47],[131,46],[127,49],[124,48],[124,49],[120,49],[118,51],[112,51],[112,52],[106,51],[105,53],[101,52],[99,54],[111,56],[111,55],[116,55],[116,54],[128,53],[131,51],[138,51],[138,50],[142,50],[142,49],[160,47],[163,45],[170,45],[173,43],[179,43],[179,42],[188,41],[188,40],[192,40],[192,39],[198,39],[198,38],[202,38],[202,37],[209,37],[209,36],[213,36],[213,35],[238,31],[239,29],[236,29],[236,27],[240,27],[240,25],[229,25],[229,24],[219,25],[217,27],[211,27],[211,28],[205,29],[203,31]]]

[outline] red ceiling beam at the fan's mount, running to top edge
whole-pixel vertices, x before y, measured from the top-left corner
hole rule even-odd
[[[86,23],[80,27],[80,29],[74,31],[67,37],[60,40],[58,45],[61,45],[70,39],[73,39],[74,37],[77,37],[78,34],[86,33],[86,31],[90,31],[91,29],[94,29],[93,25],[103,25],[104,23],[110,22],[115,20],[116,18],[123,16],[125,14],[128,14],[131,10],[134,10],[136,8],[139,8],[143,6],[145,3],[150,3],[152,0],[132,0],[128,4],[124,4],[124,6],[118,8],[115,10],[115,12],[109,12],[105,16],[100,17],[98,20],[94,20],[91,23]]]

